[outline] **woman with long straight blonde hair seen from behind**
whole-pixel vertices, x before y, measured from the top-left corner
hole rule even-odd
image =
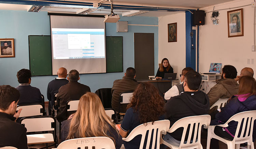
[[[115,143],[116,149],[122,145],[122,136],[106,115],[100,98],[87,92],[79,101],[76,113],[61,123],[61,141],[73,138],[105,136]]]

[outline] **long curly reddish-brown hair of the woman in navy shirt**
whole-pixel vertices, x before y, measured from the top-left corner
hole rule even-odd
[[[139,115],[140,123],[154,122],[164,113],[164,102],[155,86],[140,83],[134,90],[127,109],[132,107]]]

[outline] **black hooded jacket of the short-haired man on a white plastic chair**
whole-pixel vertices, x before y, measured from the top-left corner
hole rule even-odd
[[[171,128],[181,118],[208,114],[209,98],[202,91],[181,93],[181,95],[174,96],[167,101],[165,110],[166,119],[170,120]],[[170,135],[177,140],[181,140],[182,132],[183,128],[179,128],[173,133],[170,133]]]

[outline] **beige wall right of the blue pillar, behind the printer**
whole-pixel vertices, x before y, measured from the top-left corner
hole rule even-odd
[[[205,25],[199,27],[199,72],[209,71],[210,63],[223,63],[237,68],[238,75],[244,67],[251,67],[256,71],[255,64],[247,64],[247,59],[254,59],[256,52],[252,52],[254,44],[253,20],[254,8],[244,6],[253,0],[238,0],[215,5],[220,10],[218,25],[213,25],[211,14],[213,6],[203,8],[206,13]],[[243,6],[243,7],[241,7]],[[228,9],[237,7],[234,9]],[[244,36],[228,38],[227,11],[243,8]],[[227,10],[221,10],[227,9]]]

